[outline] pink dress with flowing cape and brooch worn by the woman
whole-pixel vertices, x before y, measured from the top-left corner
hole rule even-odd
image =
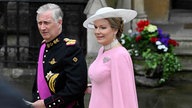
[[[89,108],[138,108],[131,57],[124,47],[103,53],[89,67],[92,92]]]

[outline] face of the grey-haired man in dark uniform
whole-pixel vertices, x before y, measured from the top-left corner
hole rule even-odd
[[[37,25],[39,32],[46,42],[52,41],[61,32],[62,20],[55,21],[51,11],[38,14]]]

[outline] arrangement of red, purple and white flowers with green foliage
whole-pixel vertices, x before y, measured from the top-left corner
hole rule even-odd
[[[130,30],[128,34],[122,34],[121,43],[133,58],[144,59],[147,72],[157,70],[159,83],[165,82],[181,69],[174,54],[174,48],[179,46],[177,41],[148,20],[137,22],[136,32]]]

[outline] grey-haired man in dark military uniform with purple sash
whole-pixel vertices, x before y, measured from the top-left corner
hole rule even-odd
[[[63,13],[56,4],[37,10],[42,42],[33,86],[34,108],[84,108],[87,65],[76,40],[62,34]]]

